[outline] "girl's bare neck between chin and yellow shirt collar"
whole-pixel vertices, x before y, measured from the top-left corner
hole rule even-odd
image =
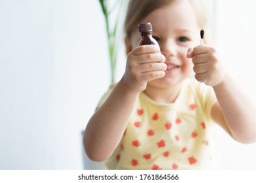
[[[147,86],[144,93],[160,103],[174,103],[179,93],[181,92],[182,83],[172,86],[170,88],[156,88],[154,86]]]

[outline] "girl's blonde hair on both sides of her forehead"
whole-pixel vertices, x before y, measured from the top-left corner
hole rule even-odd
[[[138,27],[141,23],[140,21],[154,10],[180,1],[182,0],[129,0],[124,24],[125,35],[128,38],[131,37],[131,33]],[[210,11],[211,8],[207,7],[205,0],[184,1],[190,3],[196,19],[198,20],[198,27],[205,31],[205,42],[213,42],[211,40],[213,37],[211,25],[213,16]]]

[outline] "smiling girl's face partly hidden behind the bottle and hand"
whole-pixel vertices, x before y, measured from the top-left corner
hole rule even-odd
[[[166,58],[165,76],[148,85],[166,88],[179,84],[192,73],[192,61],[186,58],[188,48],[200,44],[200,28],[188,1],[180,1],[154,10],[140,23],[150,22],[153,37],[158,41],[161,54]],[[131,47],[137,47],[138,30],[131,35]]]

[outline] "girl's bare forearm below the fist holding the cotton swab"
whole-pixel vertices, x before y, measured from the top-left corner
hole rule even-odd
[[[226,123],[236,141],[256,142],[256,110],[249,97],[238,88],[230,76],[225,76],[223,82],[213,86],[213,90],[219,102],[212,108],[213,119],[223,119],[218,120],[219,124]]]

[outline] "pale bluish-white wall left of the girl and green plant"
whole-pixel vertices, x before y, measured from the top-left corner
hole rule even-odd
[[[83,169],[110,83],[104,29],[98,1],[0,1],[0,169]]]

